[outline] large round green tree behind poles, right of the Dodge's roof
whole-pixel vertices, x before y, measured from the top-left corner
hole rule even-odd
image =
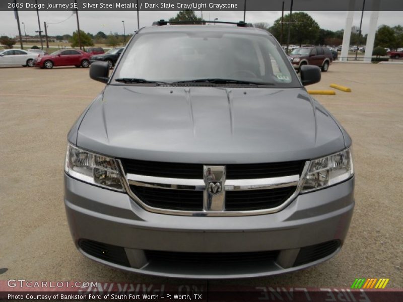
[[[319,36],[319,25],[309,16],[307,13],[298,12],[292,14],[290,20],[290,14],[284,16],[284,31],[283,41],[287,40],[288,28],[290,27],[290,43],[298,44],[313,44],[316,42]],[[274,22],[274,25],[270,28],[271,33],[280,40],[281,32],[281,18]]]

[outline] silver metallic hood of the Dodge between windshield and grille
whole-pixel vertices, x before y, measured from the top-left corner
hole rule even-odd
[[[77,145],[118,158],[182,163],[306,160],[345,147],[332,117],[303,88],[108,85]]]

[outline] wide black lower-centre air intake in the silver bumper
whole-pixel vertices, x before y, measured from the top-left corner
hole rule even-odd
[[[234,265],[240,263],[275,261],[279,251],[239,252],[239,253],[198,253],[198,252],[166,252],[145,251],[150,262],[178,262],[209,265]]]

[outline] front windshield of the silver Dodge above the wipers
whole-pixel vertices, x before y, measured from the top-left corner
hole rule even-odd
[[[275,40],[251,33],[137,34],[126,50],[114,80],[136,78],[172,83],[226,79],[295,87],[298,81],[281,53]]]

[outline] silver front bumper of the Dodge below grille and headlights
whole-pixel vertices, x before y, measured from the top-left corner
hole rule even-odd
[[[301,194],[277,213],[236,217],[152,213],[126,193],[89,185],[68,175],[64,175],[64,184],[66,213],[81,253],[119,269],[168,277],[264,276],[323,262],[337,254],[343,245],[354,208],[354,178]],[[95,245],[88,246],[94,242]],[[328,253],[318,254],[313,247],[313,253],[323,257],[302,257],[305,262],[301,261],[303,251],[329,242],[337,245],[332,245]],[[162,257],[150,258],[161,252]],[[259,252],[270,252],[274,258],[253,258],[253,253]],[[127,263],[110,255],[108,258],[104,253],[124,258]],[[229,253],[231,257],[246,255],[249,260],[227,260],[216,265],[214,259],[224,255],[220,253]],[[173,261],[172,255],[196,255],[201,259]]]

